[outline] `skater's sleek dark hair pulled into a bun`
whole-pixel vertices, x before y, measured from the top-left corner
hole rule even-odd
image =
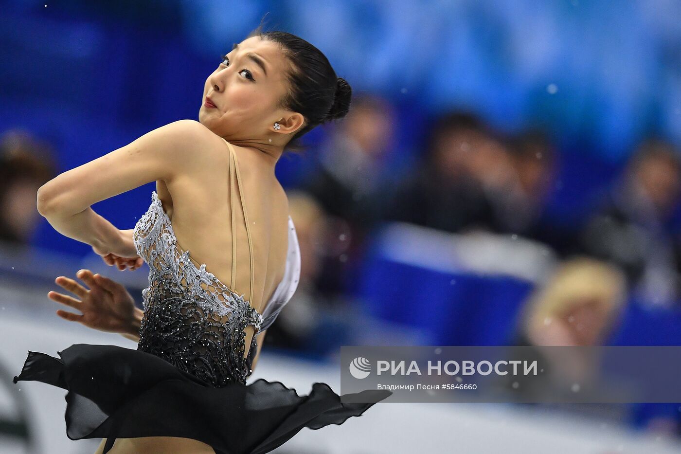
[[[336,76],[334,68],[321,50],[291,33],[262,31],[262,28],[261,23],[249,33],[247,39],[259,36],[263,40],[276,42],[289,59],[289,89],[279,105],[305,117],[306,124],[286,145],[287,149],[301,151],[304,149],[299,142],[302,136],[317,125],[339,120],[347,115],[352,89],[347,80]]]

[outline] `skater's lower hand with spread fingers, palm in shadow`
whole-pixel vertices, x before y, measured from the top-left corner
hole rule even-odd
[[[79,299],[54,291],[48,292],[48,297],[78,309],[82,315],[59,309],[58,316],[107,333],[129,334],[139,331],[139,313],[142,309],[136,307],[133,297],[124,286],[100,274],[93,275],[89,269],[78,271],[76,276],[90,289],[65,276],[57,277],[54,282]]]

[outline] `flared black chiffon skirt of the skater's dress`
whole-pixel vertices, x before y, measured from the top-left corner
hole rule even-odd
[[[68,438],[109,438],[105,453],[115,438],[147,436],[193,438],[217,454],[268,453],[303,427],[340,425],[392,394],[366,390],[347,394],[360,403],[344,403],[326,383],[316,382],[300,396],[264,378],[217,388],[130,348],[74,344],[57,353],[59,358],[29,351],[13,381],[67,390]]]

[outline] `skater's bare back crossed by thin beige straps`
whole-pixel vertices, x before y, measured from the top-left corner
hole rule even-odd
[[[264,164],[262,151],[234,147],[240,185],[230,184],[227,142],[215,136],[208,154],[210,166],[200,174],[185,174],[174,181],[156,182],[163,210],[172,221],[178,244],[189,250],[197,267],[206,264],[223,284],[243,294],[261,313],[279,285],[286,267],[288,248],[288,200],[271,167]],[[238,194],[238,187],[244,194]],[[234,191],[234,194],[232,192]],[[253,247],[253,295],[250,293],[251,258],[244,200]],[[234,202],[234,209],[232,209]],[[236,281],[232,280],[232,213],[235,216]],[[247,357],[253,327],[247,328],[244,357]]]

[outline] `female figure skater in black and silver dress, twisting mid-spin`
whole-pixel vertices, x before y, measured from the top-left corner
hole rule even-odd
[[[300,273],[274,166],[291,140],[344,117],[350,97],[317,48],[259,27],[206,79],[198,122],[159,127],[40,187],[39,212],[56,230],[109,264],[150,268],[141,320],[133,312],[119,327],[139,336],[137,350],[29,352],[14,378],[69,391],[69,438],[106,438],[101,453],[266,453],[392,394],[343,404],[323,383],[302,397],[281,382],[245,384]],[[150,181],[151,206],[132,230],[91,209]]]

